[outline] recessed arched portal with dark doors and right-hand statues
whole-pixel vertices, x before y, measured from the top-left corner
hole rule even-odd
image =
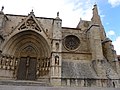
[[[12,55],[15,76],[19,80],[36,80],[49,76],[50,47],[39,33],[26,30],[12,36],[4,45],[3,53]]]

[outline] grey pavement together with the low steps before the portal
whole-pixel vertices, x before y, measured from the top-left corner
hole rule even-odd
[[[52,87],[45,82],[4,80],[0,81],[0,90],[120,90],[120,88]]]

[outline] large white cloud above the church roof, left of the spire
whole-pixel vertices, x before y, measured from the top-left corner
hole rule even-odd
[[[32,9],[36,16],[55,18],[60,12],[63,26],[76,27],[80,18],[90,20],[95,0],[0,0],[6,14],[27,15]]]

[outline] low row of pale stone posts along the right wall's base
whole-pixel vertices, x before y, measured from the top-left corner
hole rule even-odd
[[[120,87],[120,79],[62,78],[62,86],[72,87]]]

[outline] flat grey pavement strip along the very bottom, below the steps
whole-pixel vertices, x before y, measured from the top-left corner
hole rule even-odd
[[[0,85],[0,90],[120,90],[120,88],[42,87],[42,86]]]

